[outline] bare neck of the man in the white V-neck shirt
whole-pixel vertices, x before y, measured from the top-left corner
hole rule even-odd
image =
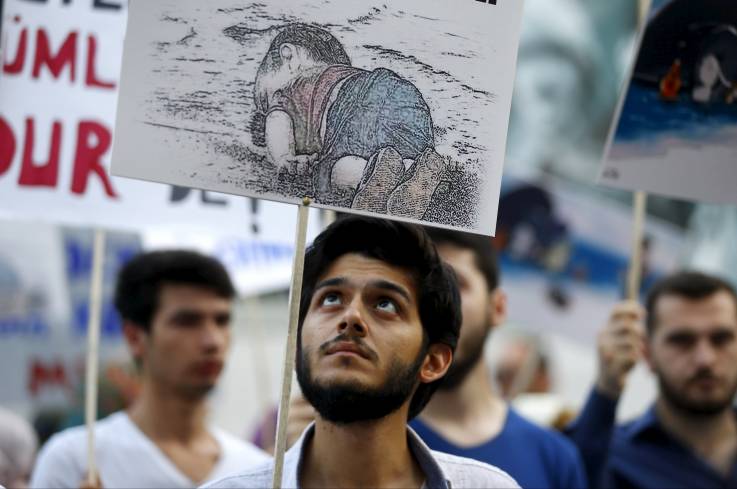
[[[188,399],[151,382],[143,383],[141,393],[128,409],[133,423],[154,442],[187,445],[209,436],[205,425],[207,407],[203,399]]]

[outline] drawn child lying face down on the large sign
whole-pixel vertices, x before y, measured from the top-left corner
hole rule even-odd
[[[306,24],[282,28],[256,75],[269,160],[312,175],[316,198],[355,188],[351,207],[420,219],[446,169],[430,108],[393,71],[351,66],[340,41]]]

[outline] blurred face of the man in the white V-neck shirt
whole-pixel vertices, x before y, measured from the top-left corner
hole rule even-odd
[[[162,389],[200,398],[217,382],[230,344],[231,301],[191,285],[164,285],[150,332],[126,329],[143,375]]]

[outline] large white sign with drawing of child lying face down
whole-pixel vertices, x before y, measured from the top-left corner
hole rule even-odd
[[[521,13],[132,0],[113,173],[492,234]]]

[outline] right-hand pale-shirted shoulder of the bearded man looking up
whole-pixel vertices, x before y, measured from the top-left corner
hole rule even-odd
[[[478,460],[432,451],[453,487],[519,487],[502,469]]]

